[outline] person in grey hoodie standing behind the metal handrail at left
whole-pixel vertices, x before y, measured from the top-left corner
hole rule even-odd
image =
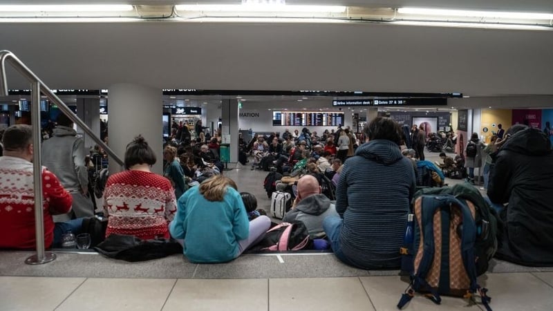
[[[94,216],[94,206],[88,194],[88,169],[84,163],[84,141],[77,138],[73,121],[64,113],[56,119],[53,136],[42,143],[42,164],[59,178],[73,197],[73,209],[55,221]]]

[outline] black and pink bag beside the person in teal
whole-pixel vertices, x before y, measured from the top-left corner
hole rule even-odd
[[[312,249],[312,240],[306,225],[300,220],[293,220],[269,229],[255,248],[261,251]]]

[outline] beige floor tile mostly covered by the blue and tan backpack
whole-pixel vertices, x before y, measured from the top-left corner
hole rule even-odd
[[[397,302],[409,285],[400,276],[363,276],[360,277],[363,286],[371,297],[377,311],[397,310]],[[467,299],[442,296],[442,303],[436,305],[420,294],[404,307],[408,311],[442,311],[442,310],[480,310],[477,305],[469,304]],[[501,310],[501,309],[498,309]]]

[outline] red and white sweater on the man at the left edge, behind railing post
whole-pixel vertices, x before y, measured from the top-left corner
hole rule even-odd
[[[0,248],[35,249],[35,191],[32,163],[0,157]],[[42,168],[44,246],[54,241],[52,215],[71,211],[73,198],[54,173]]]

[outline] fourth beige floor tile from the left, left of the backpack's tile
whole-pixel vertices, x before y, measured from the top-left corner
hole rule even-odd
[[[271,311],[374,310],[357,277],[270,279]]]

